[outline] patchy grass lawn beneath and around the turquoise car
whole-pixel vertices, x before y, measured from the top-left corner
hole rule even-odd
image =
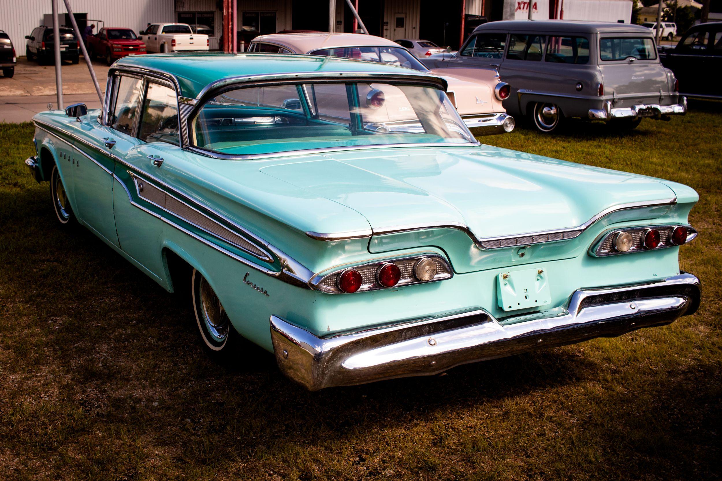
[[[56,225],[0,124],[1,480],[718,479],[722,104],[627,134],[600,123],[482,141],[694,187],[682,269],[697,314],[666,327],[309,393],[249,347],[201,349],[195,321],[90,232]]]

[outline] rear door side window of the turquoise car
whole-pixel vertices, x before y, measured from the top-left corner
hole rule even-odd
[[[138,138],[146,142],[164,141],[178,145],[178,99],[175,90],[165,85],[148,84]]]

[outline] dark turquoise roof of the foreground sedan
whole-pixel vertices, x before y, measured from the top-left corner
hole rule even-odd
[[[393,44],[396,45],[396,44]],[[266,79],[297,79],[299,77],[404,76],[431,80],[446,88],[445,80],[433,74],[406,69],[388,63],[365,62],[350,58],[284,55],[280,53],[155,53],[127,56],[113,63],[113,69],[156,71],[175,79],[183,97],[197,98],[216,81],[253,81]]]

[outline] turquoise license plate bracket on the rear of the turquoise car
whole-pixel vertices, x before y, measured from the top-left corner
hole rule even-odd
[[[549,275],[544,268],[515,270],[497,275],[497,302],[504,311],[549,306]]]

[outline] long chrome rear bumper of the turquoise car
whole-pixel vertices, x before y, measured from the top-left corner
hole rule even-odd
[[[633,286],[578,289],[567,306],[497,321],[482,309],[316,337],[271,316],[281,371],[311,391],[438,374],[453,366],[665,325],[694,314],[700,281],[682,273]]]

